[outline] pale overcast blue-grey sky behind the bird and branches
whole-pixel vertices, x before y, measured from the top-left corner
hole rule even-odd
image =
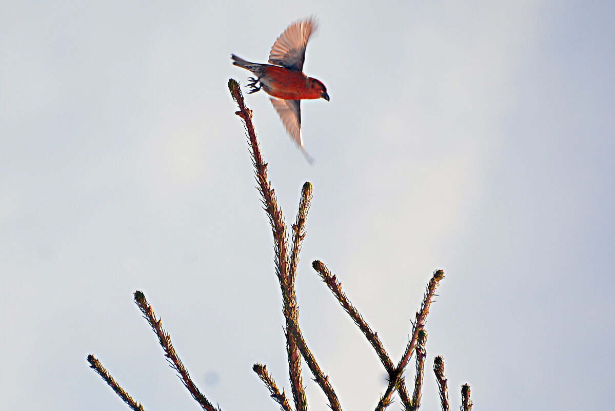
[[[210,401],[279,409],[252,372],[290,392],[271,231],[226,84],[251,75],[231,53],[266,62],[309,15],[304,70],[331,97],[303,103],[314,165],[267,95],[246,102],[289,225],[314,185],[300,324],[344,409],[373,410],[385,375],[315,259],[394,362],[445,270],[423,410],[437,355],[454,409],[463,383],[475,410],[613,406],[613,2],[331,3],[3,4],[3,409],[127,409],[90,353],[147,410],[198,409],[135,290]]]

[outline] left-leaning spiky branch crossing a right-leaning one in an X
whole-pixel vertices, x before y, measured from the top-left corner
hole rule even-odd
[[[386,372],[389,373],[389,377],[391,377],[392,373],[395,371],[395,365],[393,365],[389,354],[387,354],[384,349],[383,343],[380,341],[380,338],[378,338],[378,333],[371,330],[370,326],[359,313],[359,310],[357,310],[348,297],[346,297],[346,293],[342,291],[342,284],[338,281],[335,274],[331,274],[327,266],[319,260],[312,262],[312,267],[319,273],[320,278],[327,284],[331,292],[333,292],[333,295],[335,295],[335,298],[339,301],[339,305],[344,308],[346,313],[352,318],[352,321],[357,324],[363,335],[365,335],[371,346],[375,349],[376,354],[378,354],[380,362],[384,365],[384,369],[386,369]],[[399,395],[402,399],[402,404],[405,407],[410,407],[411,402],[408,398],[408,391],[405,385],[400,386]]]

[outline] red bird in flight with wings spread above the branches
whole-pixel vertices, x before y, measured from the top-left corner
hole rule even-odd
[[[303,147],[301,134],[301,100],[324,98],[329,101],[327,87],[321,81],[303,74],[306,46],[316,27],[312,18],[288,26],[271,47],[271,64],[250,63],[231,54],[233,65],[256,74],[256,78],[249,78],[252,82],[248,84],[251,87],[248,94],[263,89],[267,94],[276,97],[269,99],[271,104],[280,115],[290,137],[301,147],[310,162],[311,158]],[[260,83],[260,86],[256,87],[257,83]]]

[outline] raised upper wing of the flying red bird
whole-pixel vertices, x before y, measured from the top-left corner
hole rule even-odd
[[[312,17],[288,26],[271,47],[269,63],[303,71],[306,46],[308,46],[309,36],[312,31],[316,30],[316,27],[317,24]]]

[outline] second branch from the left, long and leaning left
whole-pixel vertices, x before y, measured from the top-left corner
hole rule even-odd
[[[156,318],[156,314],[154,314],[154,310],[149,305],[148,301],[145,300],[145,295],[142,292],[135,292],[135,303],[137,303],[138,307],[141,309],[141,312],[148,320],[149,325],[151,325],[154,333],[158,337],[158,341],[164,349],[164,355],[169,359],[172,367],[177,370],[179,373],[179,377],[181,381],[184,383],[188,391],[192,394],[192,397],[199,403],[199,405],[205,411],[216,411],[216,408],[213,406],[211,402],[208,401],[207,398],[199,391],[199,389],[194,385],[188,370],[184,367],[184,364],[181,362],[180,357],[175,352],[175,348],[173,348],[173,344],[171,343],[171,338],[169,337],[169,333],[162,328],[162,320]],[[220,411],[220,408],[218,408]]]

